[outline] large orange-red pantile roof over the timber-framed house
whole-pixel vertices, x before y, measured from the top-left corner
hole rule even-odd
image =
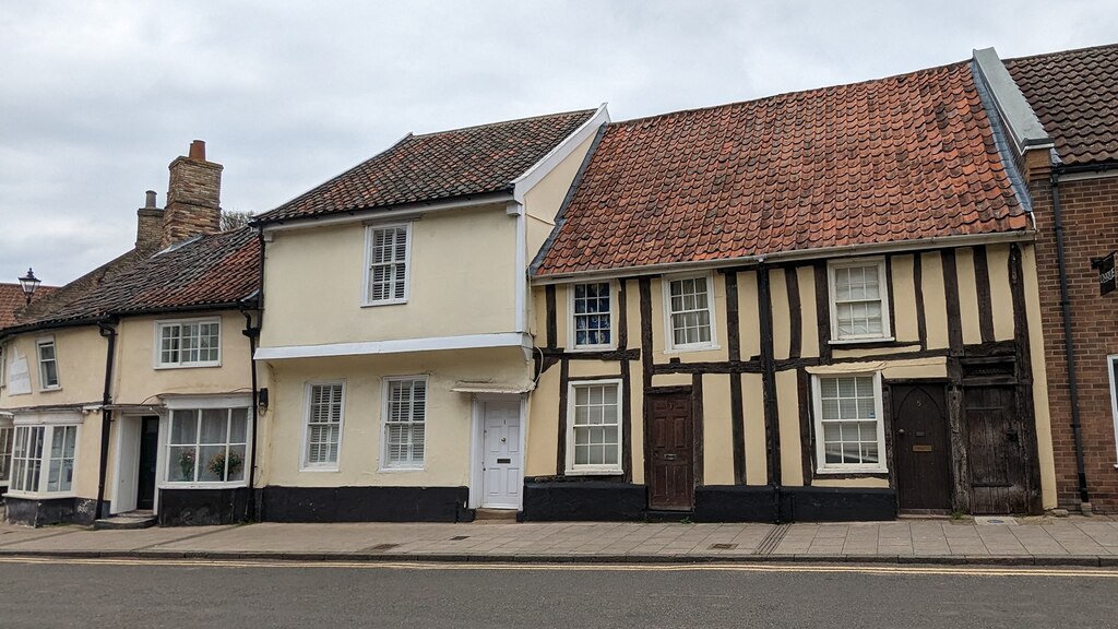
[[[967,63],[609,124],[537,275],[1026,229]]]

